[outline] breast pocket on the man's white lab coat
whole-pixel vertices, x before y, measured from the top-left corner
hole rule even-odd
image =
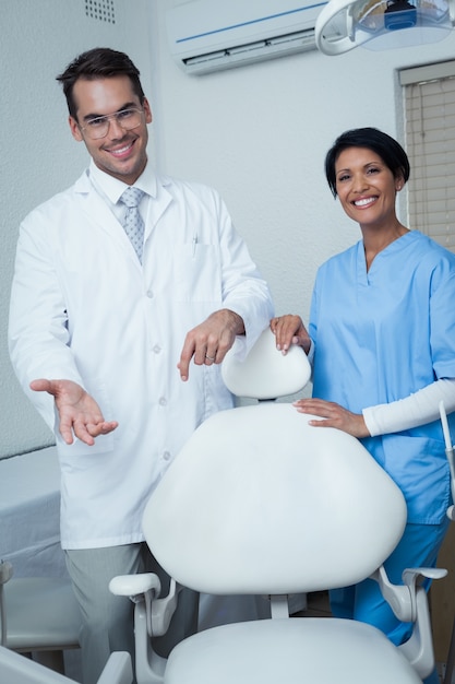
[[[176,245],[172,282],[178,302],[219,302],[221,272],[215,246],[195,239]]]

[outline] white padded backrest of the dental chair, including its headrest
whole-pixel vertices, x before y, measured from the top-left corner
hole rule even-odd
[[[304,353],[283,356],[270,331],[239,364],[227,357],[225,381],[249,397],[278,396],[276,386],[254,391],[263,375],[309,378]],[[310,417],[263,402],[195,431],[143,518],[147,544],[178,582],[213,594],[319,591],[364,579],[391,554],[406,523],[400,491],[356,438]]]

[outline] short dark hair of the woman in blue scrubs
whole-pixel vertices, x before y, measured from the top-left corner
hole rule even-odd
[[[328,187],[336,197],[335,163],[344,150],[348,148],[367,148],[382,158],[394,177],[403,176],[405,182],[409,178],[409,160],[402,145],[376,128],[356,128],[342,133],[325,156],[325,176]]]

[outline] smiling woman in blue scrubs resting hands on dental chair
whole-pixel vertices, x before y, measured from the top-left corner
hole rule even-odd
[[[386,133],[346,131],[325,172],[362,238],[319,269],[309,333],[299,316],[274,318],[271,328],[283,353],[299,344],[312,358],[313,398],[297,401],[297,411],[321,416],[310,421],[315,428],[358,437],[403,491],[407,527],[385,563],[402,583],[406,567],[435,565],[448,524],[439,404],[455,411],[455,255],[398,220],[409,162]],[[409,637],[410,625],[397,621],[373,580],[332,592],[331,605],[396,645]],[[426,682],[438,684],[436,673]]]

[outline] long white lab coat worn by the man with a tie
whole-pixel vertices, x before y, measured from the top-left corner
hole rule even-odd
[[[53,400],[28,389],[35,378],[79,382],[119,421],[94,447],[68,446],[56,432],[63,547],[143,539],[142,510],[159,477],[202,421],[232,405],[219,366],[191,364],[181,381],[187,332],[229,308],[251,345],[273,316],[217,192],[152,176],[143,267],[88,172],[20,231],[10,353],[22,387],[53,429]]]

